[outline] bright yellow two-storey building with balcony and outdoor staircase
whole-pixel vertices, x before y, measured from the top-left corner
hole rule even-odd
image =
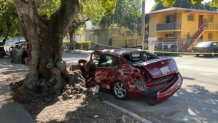
[[[183,51],[199,41],[218,41],[218,12],[176,7],[150,12],[148,37],[177,42]]]

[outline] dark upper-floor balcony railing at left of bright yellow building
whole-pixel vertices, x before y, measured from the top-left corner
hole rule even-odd
[[[162,31],[162,30],[180,30],[181,29],[181,23],[166,23],[166,24],[157,24],[156,30]]]

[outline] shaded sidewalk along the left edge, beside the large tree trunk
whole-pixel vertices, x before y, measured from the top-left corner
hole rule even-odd
[[[13,102],[9,84],[3,72],[25,70],[25,65],[13,65],[10,59],[0,59],[0,123],[35,123],[24,107]]]

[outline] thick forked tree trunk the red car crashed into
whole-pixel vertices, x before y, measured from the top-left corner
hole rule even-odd
[[[66,64],[62,61],[62,40],[77,13],[79,1],[61,0],[60,9],[50,20],[38,15],[34,0],[14,0],[14,3],[23,36],[32,48],[29,75],[19,92],[25,93],[23,99],[32,97],[34,93],[38,93],[37,96],[57,93],[69,80]]]

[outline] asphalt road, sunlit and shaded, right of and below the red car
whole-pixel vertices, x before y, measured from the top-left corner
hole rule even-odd
[[[173,57],[184,81],[182,88],[165,102],[149,106],[145,99],[105,100],[137,113],[153,123],[218,123],[218,57]]]

